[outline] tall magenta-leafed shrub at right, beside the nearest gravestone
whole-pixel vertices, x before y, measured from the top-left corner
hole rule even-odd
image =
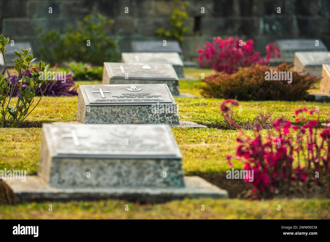
[[[225,117],[230,118],[230,105],[238,105],[237,101],[225,100],[220,109]],[[307,112],[307,108],[296,110],[295,114]],[[310,111],[313,114],[313,111]],[[300,118],[297,117],[299,120]],[[236,124],[237,125],[237,124]],[[299,182],[315,182],[318,185],[330,184],[330,129],[325,127],[317,132],[318,122],[311,120],[304,126],[291,125],[285,118],[273,122],[273,132],[268,125],[268,135],[261,135],[261,128],[256,125],[254,138],[250,138],[241,130],[237,137],[239,143],[236,155],[227,155],[244,162],[244,170],[253,171],[254,198],[268,198],[274,194],[290,191]],[[297,162],[294,163],[294,158]],[[303,158],[303,160],[302,160]],[[319,176],[322,176],[320,181]],[[248,182],[248,177],[245,181]]]

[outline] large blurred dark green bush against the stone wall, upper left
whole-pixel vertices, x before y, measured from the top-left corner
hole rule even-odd
[[[93,65],[103,65],[104,61],[117,61],[117,43],[105,32],[113,23],[114,20],[107,19],[102,14],[97,17],[89,14],[79,23],[78,28],[71,26],[63,35],[56,30],[44,33],[42,28],[38,28],[41,42],[38,54],[51,65],[68,60]],[[88,40],[90,46],[87,46]]]

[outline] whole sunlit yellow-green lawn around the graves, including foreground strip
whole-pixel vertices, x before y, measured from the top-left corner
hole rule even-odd
[[[203,85],[198,80],[200,72],[212,73],[211,70],[185,68],[186,76],[192,80],[180,80],[182,93],[200,96],[198,86]],[[208,72],[207,72],[208,71]],[[206,74],[207,75],[207,74]],[[82,84],[99,84],[100,81],[78,81]],[[78,97],[44,97],[39,106],[24,123],[23,128],[2,128],[0,136],[0,170],[27,170],[29,175],[38,171],[39,149],[41,142],[41,125],[44,122],[75,121]],[[225,171],[230,167],[226,154],[235,152],[238,131],[223,129],[224,123],[219,116],[221,99],[207,98],[176,98],[179,105],[181,120],[194,121],[208,125],[209,129],[172,129],[174,137],[183,154],[183,171],[186,175],[201,175],[221,187],[216,177],[225,177]],[[255,112],[266,110],[273,116],[285,116],[294,121],[294,111],[297,108],[319,107],[320,120],[323,122],[330,113],[330,103],[316,102],[285,102],[285,101],[248,101],[240,102],[241,110],[236,110],[240,120],[252,119]],[[307,119],[313,117],[306,116]],[[315,117],[314,117],[315,118]],[[252,131],[246,130],[252,135]],[[242,168],[238,161],[233,162],[234,168]],[[213,176],[215,175],[215,176]],[[210,178],[211,177],[211,178]],[[212,178],[213,177],[213,178]],[[235,189],[233,189],[234,191]],[[229,191],[231,193],[231,191]],[[53,211],[48,205],[53,205]],[[129,204],[129,211],[124,205]],[[201,211],[201,204],[205,211]],[[281,204],[281,211],[277,205]],[[172,201],[162,204],[138,204],[125,201],[98,202],[47,202],[26,203],[19,205],[0,204],[0,219],[11,218],[226,218],[226,219],[316,219],[330,218],[330,200],[314,199],[274,199],[267,201],[247,201],[238,199],[212,200],[194,199]]]

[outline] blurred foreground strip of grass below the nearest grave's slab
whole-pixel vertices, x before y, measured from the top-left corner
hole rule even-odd
[[[52,211],[49,211],[49,205]],[[125,211],[125,205],[128,211]],[[205,211],[201,211],[201,205]],[[281,205],[281,211],[277,210]],[[185,199],[161,204],[106,200],[0,205],[0,219],[329,219],[330,200]]]

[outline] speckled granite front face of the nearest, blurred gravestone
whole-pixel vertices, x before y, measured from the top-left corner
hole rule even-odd
[[[51,164],[48,177],[40,173],[38,176],[56,188],[184,186],[182,162],[176,159],[52,158]]]

